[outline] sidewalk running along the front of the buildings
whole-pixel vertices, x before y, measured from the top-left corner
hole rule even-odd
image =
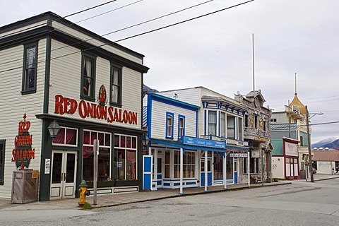
[[[339,178],[339,175],[331,174],[314,174],[314,180],[320,181],[324,179],[334,179]],[[297,181],[306,181],[297,180]],[[292,184],[293,181],[279,181],[272,183],[264,183],[263,186],[278,186],[285,184]],[[261,183],[251,184],[250,188],[260,188]],[[157,191],[139,191],[134,193],[127,194],[109,194],[109,195],[98,195],[97,196],[97,207],[104,206],[117,206],[126,203],[138,203],[145,201],[159,200],[163,198],[174,198],[179,196],[191,196],[198,194],[206,194],[209,192],[225,192],[225,191],[234,191],[239,189],[249,189],[247,184],[229,184],[227,185],[227,190],[224,189],[224,186],[209,186],[208,191],[203,191],[203,187],[198,188],[187,188],[184,189],[184,194],[179,194],[179,189],[161,189]],[[86,200],[90,205],[93,206],[93,195],[89,196]],[[78,198],[69,198],[61,199],[54,201],[37,201],[33,203],[25,204],[16,204],[11,203],[11,200],[8,198],[0,198],[0,210],[46,210],[46,209],[79,209]]]

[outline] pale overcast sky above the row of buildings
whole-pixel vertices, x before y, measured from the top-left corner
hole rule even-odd
[[[52,11],[67,16],[105,0],[1,0],[0,26]],[[67,18],[98,35],[114,32],[206,0],[117,0]],[[150,23],[105,36],[116,41],[141,32],[241,4],[214,0]],[[126,6],[131,4],[130,6]],[[113,11],[114,8],[126,6]],[[111,11],[109,13],[106,13]],[[145,55],[145,85],[157,90],[204,86],[234,97],[261,90],[274,111],[295,93],[309,112],[323,112],[311,124],[339,121],[339,1],[255,0],[187,23],[118,42]],[[312,141],[339,138],[339,124],[312,126]]]

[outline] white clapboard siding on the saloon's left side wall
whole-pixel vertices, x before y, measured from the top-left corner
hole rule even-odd
[[[0,73],[0,139],[6,140],[4,186],[0,186],[0,197],[11,197],[13,171],[16,170],[16,162],[11,161],[12,151],[18,136],[18,123],[23,121],[23,114],[27,116],[26,121],[31,123],[28,132],[32,135],[32,148],[35,149],[35,158],[30,161],[29,168],[40,170],[42,120],[37,119],[35,114],[42,113],[43,107],[46,40],[40,40],[37,48],[37,92],[28,95],[21,95],[23,45],[0,51],[0,61],[9,62],[11,59],[11,63],[0,66],[0,71],[4,71]]]

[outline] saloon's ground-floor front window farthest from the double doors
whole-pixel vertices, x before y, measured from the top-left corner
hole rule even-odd
[[[114,135],[114,179],[134,180],[136,177],[136,136]]]

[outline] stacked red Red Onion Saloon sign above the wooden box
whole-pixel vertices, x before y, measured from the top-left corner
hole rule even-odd
[[[11,162],[16,162],[17,169],[28,169],[30,160],[35,158],[35,148],[32,148],[32,135],[28,132],[30,121],[26,121],[26,113],[23,121],[19,122],[18,136],[14,139],[16,148],[12,151]]]

